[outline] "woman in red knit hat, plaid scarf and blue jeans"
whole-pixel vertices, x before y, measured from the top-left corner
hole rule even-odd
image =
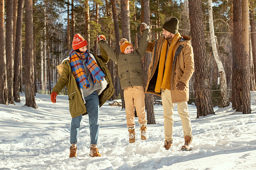
[[[76,157],[78,134],[83,114],[89,115],[91,146],[89,156],[100,157],[97,143],[99,137],[99,107],[114,93],[110,71],[105,66],[106,55],[97,56],[87,50],[87,40],[80,34],[73,38],[69,57],[57,66],[61,75],[52,89],[51,101],[56,103],[57,94],[67,86],[70,114],[70,158]],[[104,54],[104,53],[102,53]],[[108,82],[110,82],[108,84]]]

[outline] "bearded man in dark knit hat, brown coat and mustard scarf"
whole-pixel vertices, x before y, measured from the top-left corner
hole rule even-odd
[[[145,92],[161,96],[164,117],[164,148],[173,145],[174,103],[177,103],[185,143],[183,151],[190,151],[192,129],[188,115],[189,79],[194,72],[193,47],[190,37],[180,35],[179,20],[170,18],[163,25],[163,36],[148,43],[146,52],[152,53],[148,68]]]

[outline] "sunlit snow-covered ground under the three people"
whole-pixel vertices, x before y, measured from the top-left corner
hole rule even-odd
[[[135,143],[128,141],[125,110],[100,108],[98,141],[102,157],[89,157],[88,115],[83,116],[77,157],[69,158],[70,123],[68,97],[36,94],[38,109],[21,103],[0,105],[0,169],[255,169],[256,94],[251,92],[252,114],[234,112],[231,106],[214,108],[216,115],[196,118],[189,105],[193,127],[193,151],[180,151],[181,120],[175,108],[174,145],[163,148],[162,106],[154,106],[156,125],[148,125],[148,140],[140,140],[136,118]]]

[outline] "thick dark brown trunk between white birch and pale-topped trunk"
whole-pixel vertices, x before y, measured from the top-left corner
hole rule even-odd
[[[233,66],[232,66],[232,109],[242,112],[242,0],[233,1]]]

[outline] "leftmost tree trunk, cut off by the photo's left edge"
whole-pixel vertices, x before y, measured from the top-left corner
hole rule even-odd
[[[8,105],[5,42],[5,1],[0,0],[0,104]]]

